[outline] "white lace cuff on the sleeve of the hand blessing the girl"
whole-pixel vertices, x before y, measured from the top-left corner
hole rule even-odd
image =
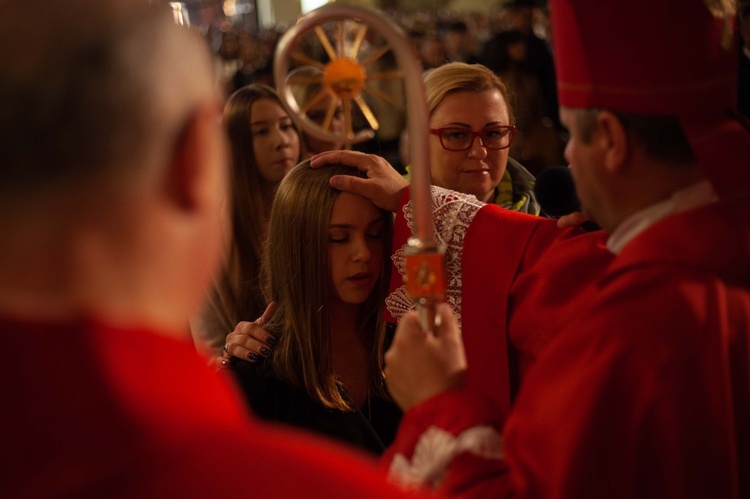
[[[466,230],[484,203],[470,194],[449,191],[440,187],[432,190],[432,218],[435,224],[435,237],[445,244],[445,272],[448,281],[444,301],[448,303],[461,324],[461,258]],[[410,229],[414,229],[412,202],[404,205],[404,218]],[[406,275],[404,251],[399,248],[391,257],[402,277]],[[385,300],[386,308],[396,320],[409,310],[414,310],[414,301],[406,292],[406,286],[393,291]]]

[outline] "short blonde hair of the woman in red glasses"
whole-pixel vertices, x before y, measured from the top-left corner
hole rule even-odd
[[[486,66],[449,62],[425,72],[425,92],[427,109],[432,114],[445,96],[456,92],[484,92],[498,90],[506,103],[510,103],[508,90],[503,81]],[[513,112],[508,106],[510,122],[513,123]]]

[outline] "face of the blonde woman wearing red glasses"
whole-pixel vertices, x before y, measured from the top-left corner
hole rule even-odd
[[[508,105],[497,89],[448,94],[430,118],[432,129],[450,127],[479,132],[509,124]],[[495,188],[505,173],[508,150],[488,149],[475,137],[469,149],[448,151],[438,136],[430,135],[432,183],[492,202]]]

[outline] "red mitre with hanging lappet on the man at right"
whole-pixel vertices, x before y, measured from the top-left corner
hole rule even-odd
[[[676,116],[723,198],[750,194],[737,30],[721,0],[551,0],[560,105]],[[741,119],[741,118],[740,118]]]

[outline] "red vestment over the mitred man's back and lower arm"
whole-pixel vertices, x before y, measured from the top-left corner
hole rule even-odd
[[[485,473],[468,495],[747,497],[748,220],[750,202],[714,203],[630,241],[559,321],[524,380],[501,456],[454,452]],[[405,414],[387,464],[395,476],[414,472],[420,449],[437,441],[430,426],[459,436],[487,423],[477,390],[440,395]],[[452,483],[461,467],[449,466]]]

